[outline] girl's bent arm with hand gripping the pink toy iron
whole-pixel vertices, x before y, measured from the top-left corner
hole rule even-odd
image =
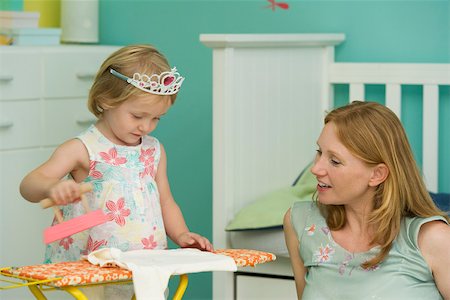
[[[57,205],[65,205],[80,198],[77,182],[87,177],[89,155],[78,139],[65,142],[56,148],[50,158],[24,177],[20,193],[30,202],[52,198]],[[71,173],[74,180],[61,179]]]

